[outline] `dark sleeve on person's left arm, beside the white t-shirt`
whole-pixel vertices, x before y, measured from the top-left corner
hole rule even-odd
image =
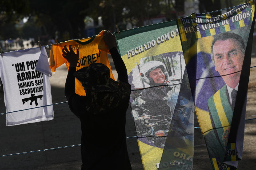
[[[83,102],[82,97],[75,93],[75,67],[69,67],[69,72],[67,73],[67,79],[65,83],[65,97],[69,102],[69,108],[80,119],[79,105]],[[81,106],[81,105],[80,105]]]

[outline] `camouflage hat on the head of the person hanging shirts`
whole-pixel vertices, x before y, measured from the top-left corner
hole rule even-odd
[[[110,69],[102,63],[93,63],[74,72],[82,86],[92,91],[117,91],[118,84],[110,78]]]

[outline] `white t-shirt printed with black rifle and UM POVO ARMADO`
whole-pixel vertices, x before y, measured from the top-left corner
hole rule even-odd
[[[6,112],[52,104],[49,76],[51,71],[44,46],[41,50],[35,47],[3,53],[3,57],[0,56],[0,77]],[[6,114],[6,125],[34,123],[53,118],[53,106],[40,107]]]

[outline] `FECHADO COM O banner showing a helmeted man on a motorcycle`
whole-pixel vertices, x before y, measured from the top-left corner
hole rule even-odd
[[[115,36],[131,85],[130,106],[144,169],[161,169],[163,157],[163,165],[169,169],[177,169],[177,165],[192,168],[193,130],[186,137],[184,128],[193,129],[194,109],[191,116],[187,115],[184,103],[189,103],[190,98],[178,100],[183,77],[187,76],[176,21],[120,31]],[[176,116],[177,100],[182,109]],[[169,129],[173,119],[177,133]],[[169,132],[178,137],[166,155],[165,144],[172,143],[166,141]]]

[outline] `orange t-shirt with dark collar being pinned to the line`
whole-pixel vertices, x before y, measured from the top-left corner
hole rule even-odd
[[[91,38],[84,38],[81,40],[69,40],[58,43],[58,46],[57,44],[51,45],[49,60],[51,71],[55,72],[56,68],[64,63],[66,64],[67,69],[69,69],[69,62],[67,62],[67,60],[62,56],[62,49],[65,45],[67,45],[67,49],[69,49],[69,45],[72,45],[71,47],[75,53],[77,49],[79,49],[77,70],[83,67],[87,67],[94,62],[102,63],[110,69],[110,77],[115,80],[111,71],[109,59],[107,57],[109,49],[104,42],[103,32],[104,30],[101,31],[97,36],[93,36]],[[75,79],[75,93],[79,95],[85,95],[85,90],[83,89],[82,84],[77,79]]]

